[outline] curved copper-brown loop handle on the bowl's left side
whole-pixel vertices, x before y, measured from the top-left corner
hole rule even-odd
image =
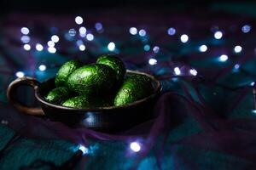
[[[44,111],[40,107],[29,107],[23,105],[18,99],[15,98],[17,92],[16,89],[20,86],[26,85],[36,89],[38,88],[38,84],[39,82],[32,77],[17,78],[15,81],[11,82],[7,88],[7,98],[9,99],[9,102],[12,103],[15,108],[22,113],[26,113],[27,115],[43,116]]]

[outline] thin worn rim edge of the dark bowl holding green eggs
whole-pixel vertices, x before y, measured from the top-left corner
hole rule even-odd
[[[67,107],[67,106],[62,106],[62,105],[55,105],[55,104],[49,103],[47,100],[44,99],[44,97],[42,97],[39,94],[39,86],[35,87],[35,96],[44,105],[49,105],[51,107],[55,107],[56,109],[63,109],[63,110],[68,110],[68,111],[113,111],[113,110],[120,110],[120,109],[134,107],[136,105],[140,105],[141,103],[147,101],[148,99],[153,99],[156,95],[160,94],[160,91],[162,90],[162,86],[161,86],[160,81],[157,80],[156,78],[154,78],[154,76],[149,75],[148,73],[145,73],[145,72],[141,72],[141,71],[126,70],[126,73],[140,74],[140,75],[144,75],[144,76],[149,77],[152,81],[154,81],[156,83],[156,87],[154,89],[154,93],[150,94],[148,97],[145,97],[143,99],[138,99],[138,100],[136,100],[134,102],[131,102],[131,103],[127,104],[127,105],[119,105],[119,106],[112,105],[112,106],[108,106],[108,107],[94,107],[94,108],[92,107],[92,108],[83,108],[83,109]],[[48,79],[48,80],[46,80],[44,82],[47,82],[49,80],[50,79]],[[44,82],[41,82],[40,84],[42,84]]]

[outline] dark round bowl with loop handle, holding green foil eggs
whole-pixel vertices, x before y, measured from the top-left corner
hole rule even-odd
[[[127,105],[75,109],[54,105],[44,99],[44,96],[55,88],[55,78],[38,82],[32,77],[20,77],[9,84],[7,97],[18,111],[29,115],[46,116],[52,121],[63,122],[70,127],[87,127],[102,132],[119,132],[152,118],[154,103],[161,91],[160,81],[154,77],[138,71],[127,71],[127,74],[140,74],[149,77],[154,87],[154,93]],[[27,107],[18,101],[17,88],[24,85],[34,88],[35,97],[41,108]]]

